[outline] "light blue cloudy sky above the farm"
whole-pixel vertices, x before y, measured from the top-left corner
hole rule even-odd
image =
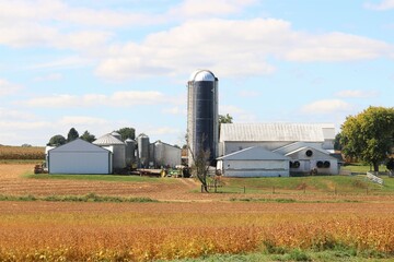
[[[393,107],[394,0],[0,0],[0,144],[132,127],[185,144],[186,83],[233,122]]]

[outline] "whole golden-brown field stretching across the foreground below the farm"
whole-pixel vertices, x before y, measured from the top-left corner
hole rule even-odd
[[[0,165],[0,194],[114,194],[159,203],[0,202],[1,261],[152,261],[215,253],[348,249],[393,258],[391,195],[248,194],[230,201],[198,184],[42,180]],[[318,201],[317,201],[318,200]]]

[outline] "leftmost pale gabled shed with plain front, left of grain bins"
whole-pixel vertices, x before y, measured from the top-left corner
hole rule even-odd
[[[108,150],[77,139],[47,152],[49,174],[112,174]]]

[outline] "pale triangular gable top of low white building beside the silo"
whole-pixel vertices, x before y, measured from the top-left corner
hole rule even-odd
[[[270,152],[262,146],[252,146],[218,158],[219,160],[289,160],[290,158]]]

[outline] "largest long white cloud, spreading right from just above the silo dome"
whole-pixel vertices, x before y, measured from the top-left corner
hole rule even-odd
[[[340,62],[393,56],[394,47],[350,34],[297,32],[282,20],[211,19],[153,33],[140,44],[114,45],[107,53],[96,73],[124,80],[175,75],[196,68],[209,68],[221,76],[270,74],[276,68],[269,58]]]

